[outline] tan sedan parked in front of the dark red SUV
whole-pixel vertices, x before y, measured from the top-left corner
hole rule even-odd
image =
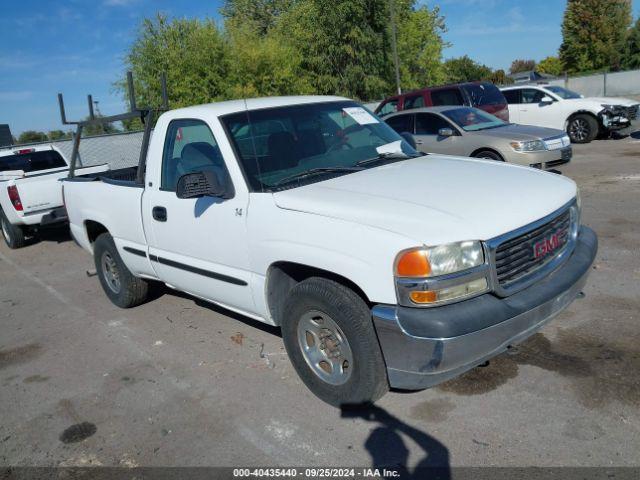
[[[571,160],[562,130],[515,125],[472,107],[429,107],[389,115],[396,132],[414,136],[423,153],[488,158],[549,169]]]

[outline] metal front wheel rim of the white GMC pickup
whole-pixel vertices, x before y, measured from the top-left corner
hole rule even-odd
[[[338,324],[326,313],[311,310],[300,318],[298,345],[307,365],[322,381],[342,385],[351,377],[351,346]]]

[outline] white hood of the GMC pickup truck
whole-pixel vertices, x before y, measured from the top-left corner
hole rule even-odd
[[[575,183],[561,175],[495,161],[427,155],[273,197],[282,209],[391,231],[418,245],[436,245],[491,239],[552,213],[575,195]]]

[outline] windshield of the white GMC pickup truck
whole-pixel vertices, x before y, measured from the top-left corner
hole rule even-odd
[[[250,110],[222,121],[253,191],[296,187],[419,155],[351,101]]]

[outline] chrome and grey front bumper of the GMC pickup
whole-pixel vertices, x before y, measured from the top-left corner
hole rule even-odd
[[[487,293],[431,309],[376,305],[373,320],[390,385],[437,385],[533,335],[580,293],[597,250],[596,234],[583,226],[560,267],[509,297]]]

